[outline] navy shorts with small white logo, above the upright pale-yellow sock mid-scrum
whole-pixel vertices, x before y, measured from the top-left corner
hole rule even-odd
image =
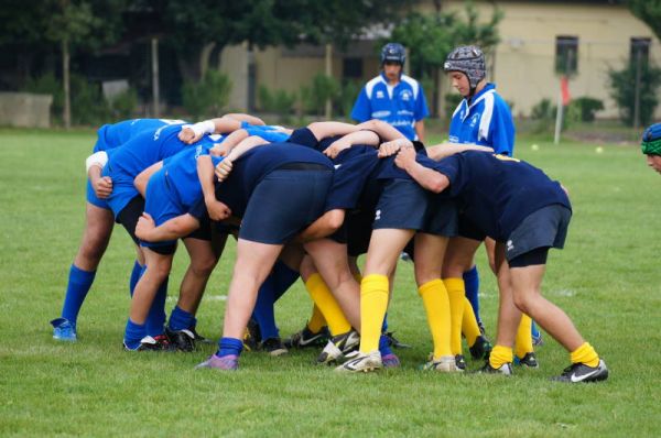
[[[429,194],[411,179],[390,179],[377,202],[372,229],[422,230]]]

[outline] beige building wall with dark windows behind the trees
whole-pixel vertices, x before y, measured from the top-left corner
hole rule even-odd
[[[606,107],[598,117],[617,117],[617,107],[610,99],[607,86],[608,68],[621,68],[629,58],[631,37],[650,37],[650,59],[661,61],[661,45],[649,28],[636,19],[626,7],[600,3],[582,3],[572,1],[494,1],[476,2],[483,20],[491,15],[492,4],[505,12],[500,22],[500,44],[488,59],[494,66],[489,80],[497,84],[499,92],[513,102],[517,116],[528,116],[532,107],[548,98],[554,102],[560,92],[560,77],[555,74],[555,37],[571,35],[578,37],[578,72],[570,80],[573,98],[588,96],[602,99]],[[423,2],[420,8],[433,11],[431,1]],[[444,10],[460,11],[463,1],[444,1]],[[466,42],[470,43],[470,42]],[[228,50],[235,51],[236,63],[241,56],[247,58],[243,46]],[[408,47],[413,52],[415,47]],[[227,50],[226,50],[227,51]],[[349,47],[350,51],[350,47]],[[283,47],[270,47],[254,52],[256,90],[260,85],[270,89],[299,90],[308,85],[318,73],[325,70],[323,47],[314,53],[296,55],[295,51]],[[368,80],[379,72],[377,53],[362,52],[362,80]],[[225,55],[224,55],[225,58]],[[241,64],[243,65],[243,64]],[[247,65],[247,64],[246,64]],[[334,51],[333,75],[342,78],[343,54]],[[243,73],[234,72],[243,75]],[[234,79],[235,90],[232,103],[237,109],[247,109],[247,81]],[[448,83],[442,88],[447,90]],[[661,108],[658,110],[661,117]]]

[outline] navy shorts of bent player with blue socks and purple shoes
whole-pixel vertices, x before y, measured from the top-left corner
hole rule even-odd
[[[311,165],[314,166],[314,165]],[[324,213],[333,171],[277,168],[259,182],[246,207],[239,239],[282,244]]]

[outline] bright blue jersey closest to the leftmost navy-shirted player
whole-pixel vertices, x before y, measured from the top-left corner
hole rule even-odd
[[[209,155],[212,147],[213,143],[198,143],[163,161],[165,177],[170,183],[170,193],[183,207],[182,215],[193,208],[203,197],[202,184],[197,176],[197,158]],[[223,157],[212,155],[214,166],[221,161]]]

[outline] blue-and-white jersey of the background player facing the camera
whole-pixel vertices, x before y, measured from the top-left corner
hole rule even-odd
[[[394,87],[388,84],[383,74],[375,77],[362,87],[351,110],[351,119],[358,122],[382,120],[409,140],[418,140],[415,122],[429,114],[422,86],[407,75],[402,75]]]

